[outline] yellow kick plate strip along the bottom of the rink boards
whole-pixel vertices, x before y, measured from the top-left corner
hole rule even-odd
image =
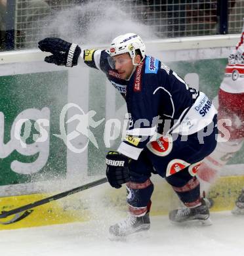
[[[157,179],[154,176],[152,181],[155,188],[152,196],[151,214],[167,215],[171,209],[175,209],[175,207],[180,205],[178,198],[169,184],[163,181],[163,179]],[[209,194],[209,197],[214,202],[211,211],[233,209],[235,199],[243,184],[244,176],[221,177]],[[1,198],[0,211],[8,211],[15,207],[41,200],[47,196],[51,196],[51,194],[32,194]],[[90,191],[83,191],[69,198],[63,198],[56,202],[36,207],[26,219],[9,225],[1,224],[0,230],[96,220],[96,217],[102,214],[105,207],[124,217],[127,213],[125,198],[125,187],[115,190],[114,188],[110,188],[108,184],[104,184],[98,188],[91,188]],[[7,220],[8,218],[2,219],[2,221]]]

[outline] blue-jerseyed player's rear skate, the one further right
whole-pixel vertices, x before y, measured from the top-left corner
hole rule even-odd
[[[203,225],[211,225],[209,219],[209,207],[207,207],[205,200],[201,200],[201,205],[192,208],[180,208],[169,213],[169,219],[173,223],[200,223]]]

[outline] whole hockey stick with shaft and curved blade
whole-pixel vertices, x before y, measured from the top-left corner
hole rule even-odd
[[[14,214],[15,215],[9,221],[6,221],[6,222],[1,221],[0,224],[16,223],[17,221],[20,221],[20,220],[26,218],[28,215],[30,215],[31,212],[33,211],[33,210],[30,210],[30,209],[32,209],[34,207],[37,207],[39,205],[43,205],[45,203],[52,202],[54,200],[58,200],[60,198],[64,198],[66,196],[71,196],[72,194],[75,194],[77,192],[81,192],[83,190],[87,190],[88,188],[92,188],[93,186],[98,186],[98,185],[103,184],[107,181],[108,181],[107,178],[102,178],[100,180],[93,181],[93,182],[85,184],[83,186],[78,186],[77,188],[73,188],[71,190],[62,192],[60,194],[56,194],[54,196],[49,196],[49,198],[43,198],[42,200],[20,206],[18,208],[12,209],[10,211],[2,211],[0,213],[0,219],[9,217],[10,215],[14,215]]]

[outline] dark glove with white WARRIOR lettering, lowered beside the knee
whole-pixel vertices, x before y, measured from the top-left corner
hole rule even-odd
[[[119,152],[110,151],[106,156],[106,176],[113,188],[121,188],[121,184],[131,181],[129,176],[129,162],[127,158]]]

